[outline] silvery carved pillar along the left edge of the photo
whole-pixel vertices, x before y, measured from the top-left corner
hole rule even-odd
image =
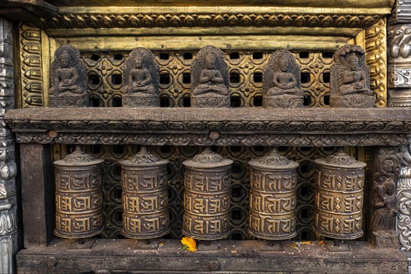
[[[12,108],[12,23],[0,18],[0,273],[14,273],[14,255],[18,251],[14,138],[4,121],[5,111]]]

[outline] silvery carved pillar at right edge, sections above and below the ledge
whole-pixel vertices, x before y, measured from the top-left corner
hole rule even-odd
[[[411,0],[396,0],[388,19],[388,105],[411,106]],[[399,212],[397,230],[401,250],[411,250],[411,155],[403,155],[403,166],[397,183]],[[397,182],[397,181],[396,181]]]

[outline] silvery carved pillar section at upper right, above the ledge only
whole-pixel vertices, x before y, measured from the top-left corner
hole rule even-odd
[[[411,0],[397,0],[388,21],[388,105],[411,106]]]

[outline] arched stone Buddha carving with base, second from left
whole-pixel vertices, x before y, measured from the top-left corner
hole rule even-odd
[[[153,53],[142,47],[133,49],[125,60],[123,106],[160,106],[159,75],[160,66],[155,62]]]

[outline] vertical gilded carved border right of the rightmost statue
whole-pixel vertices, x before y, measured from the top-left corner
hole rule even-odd
[[[385,107],[387,104],[387,43],[386,18],[365,31],[365,62],[370,68],[370,88],[375,95],[375,106]]]

